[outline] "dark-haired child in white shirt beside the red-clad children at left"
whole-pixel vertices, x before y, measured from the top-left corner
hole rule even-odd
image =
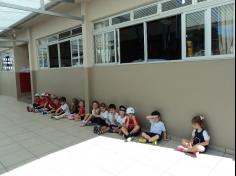
[[[56,110],[56,112],[51,116],[51,118],[59,120],[70,115],[69,106],[66,103],[66,98],[60,98],[61,107]]]

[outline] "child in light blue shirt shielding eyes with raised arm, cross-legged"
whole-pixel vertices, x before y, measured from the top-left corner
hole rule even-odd
[[[142,138],[139,139],[142,143],[154,143],[157,144],[158,141],[164,137],[167,141],[165,124],[161,121],[161,114],[158,111],[152,112],[150,116],[146,117],[151,123],[151,128],[149,132],[143,132]]]

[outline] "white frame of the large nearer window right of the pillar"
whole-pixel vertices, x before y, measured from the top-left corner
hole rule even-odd
[[[120,16],[122,14],[127,14],[128,12],[123,12],[121,14],[116,14],[115,16],[111,16],[111,17],[107,17],[105,19],[109,19],[110,21],[110,26],[106,27],[106,28],[102,28],[99,30],[94,30],[94,35],[98,34],[98,33],[102,33],[102,32],[106,32],[108,30],[115,30],[118,31],[118,38],[116,40],[118,40],[118,53],[116,53],[116,55],[118,55],[117,58],[117,62],[116,63],[100,63],[100,64],[95,64],[95,65],[126,65],[126,64],[143,64],[143,63],[163,63],[163,62],[183,62],[183,61],[198,61],[198,60],[218,60],[218,59],[234,59],[235,58],[235,50],[233,54],[226,54],[226,55],[211,55],[211,9],[214,7],[219,7],[219,6],[223,6],[223,5],[227,5],[227,4],[234,4],[235,5],[235,1],[234,0],[207,0],[207,1],[203,1],[203,2],[197,2],[197,0],[192,0],[192,4],[191,5],[187,5],[184,7],[180,7],[177,9],[173,9],[173,10],[169,10],[166,12],[161,12],[161,5],[163,2],[167,2],[169,0],[163,0],[160,2],[157,2],[157,6],[158,6],[158,12],[156,15],[151,15],[151,16],[147,16],[147,17],[143,17],[140,19],[132,19],[129,22],[123,22],[120,24],[116,24],[116,25],[111,25],[111,19],[113,17],[116,16]],[[223,1],[223,2],[222,2]],[[153,4],[150,4],[148,6],[151,6]],[[139,9],[144,8],[144,7],[140,7]],[[132,14],[132,12],[134,10],[137,9],[133,9],[130,11],[130,13]],[[200,57],[192,57],[192,58],[187,58],[186,57],[186,14],[189,13],[193,13],[196,11],[205,11],[205,56],[200,56]],[[234,13],[235,13],[235,8],[234,8]],[[140,23],[144,23],[146,24],[147,22],[150,21],[155,21],[155,20],[159,20],[159,19],[163,19],[163,18],[167,18],[167,17],[171,17],[171,16],[176,16],[176,15],[181,15],[181,33],[182,33],[182,58],[180,60],[172,60],[172,61],[148,61],[148,58],[146,58],[148,55],[148,51],[147,51],[147,39],[146,39],[146,35],[144,33],[144,48],[146,48],[145,51],[145,61],[144,62],[137,62],[137,63],[120,63],[120,41],[119,41],[119,29],[122,27],[129,27],[132,25],[136,25],[136,24],[140,24]],[[132,17],[132,15],[131,15]],[[103,21],[105,19],[101,19],[100,21]],[[210,21],[209,21],[210,20]],[[234,26],[235,26],[235,18],[234,18]],[[144,26],[144,28],[146,28]],[[145,31],[147,29],[144,29]],[[144,32],[145,32],[144,31]],[[116,35],[115,35],[116,38]],[[93,40],[94,42],[94,40]],[[116,45],[116,43],[115,43]],[[95,45],[94,45],[95,46]],[[234,48],[235,48],[235,27],[234,27]],[[95,49],[94,49],[95,50]],[[95,61],[95,57],[94,57],[94,61]]]

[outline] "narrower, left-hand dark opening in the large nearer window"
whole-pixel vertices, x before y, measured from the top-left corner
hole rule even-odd
[[[121,63],[144,61],[143,24],[120,29]]]

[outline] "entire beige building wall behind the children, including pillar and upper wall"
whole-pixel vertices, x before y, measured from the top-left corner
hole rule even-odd
[[[80,23],[47,16],[34,20],[30,32],[23,31],[19,37],[31,37],[29,45],[35,91],[49,91],[69,99],[89,94],[90,101],[97,99],[132,105],[137,109],[144,128],[149,125],[145,115],[159,109],[169,133],[178,137],[190,137],[191,118],[195,113],[203,113],[207,117],[212,143],[235,149],[235,59],[93,66],[93,21],[151,2],[154,1],[90,0],[84,5],[84,67],[89,69],[39,70],[36,40]],[[71,4],[57,10],[74,15],[81,13],[79,6]]]

